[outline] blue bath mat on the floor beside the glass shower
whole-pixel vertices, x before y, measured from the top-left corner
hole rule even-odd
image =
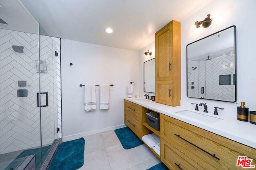
[[[49,170],[77,170],[84,164],[84,138],[60,144]]]

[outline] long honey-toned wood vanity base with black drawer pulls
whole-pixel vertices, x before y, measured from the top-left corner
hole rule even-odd
[[[160,113],[160,131],[156,131],[148,125],[146,120],[146,113],[150,111],[154,110],[124,100],[125,124],[140,139],[153,132],[160,136],[160,156],[151,150],[168,168],[174,170],[244,169],[242,160],[238,164],[240,166],[236,166],[238,156],[247,156],[247,161],[252,159],[250,165],[256,166],[256,149],[162,113]]]

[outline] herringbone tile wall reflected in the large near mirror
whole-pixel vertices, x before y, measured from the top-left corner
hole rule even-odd
[[[192,67],[198,67],[193,70]],[[188,96],[234,101],[234,57],[225,55],[208,61],[188,62]],[[231,74],[231,85],[220,85],[220,75]],[[207,81],[206,81],[207,80]],[[192,85],[194,82],[194,85]],[[194,86],[192,90],[191,86]],[[201,88],[204,87],[204,94]]]

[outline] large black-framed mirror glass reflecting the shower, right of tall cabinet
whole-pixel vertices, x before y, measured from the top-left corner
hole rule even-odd
[[[236,27],[187,45],[187,96],[236,102]]]

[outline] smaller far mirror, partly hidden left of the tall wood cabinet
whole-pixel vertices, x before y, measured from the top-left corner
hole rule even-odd
[[[155,59],[144,62],[144,92],[156,92]]]

